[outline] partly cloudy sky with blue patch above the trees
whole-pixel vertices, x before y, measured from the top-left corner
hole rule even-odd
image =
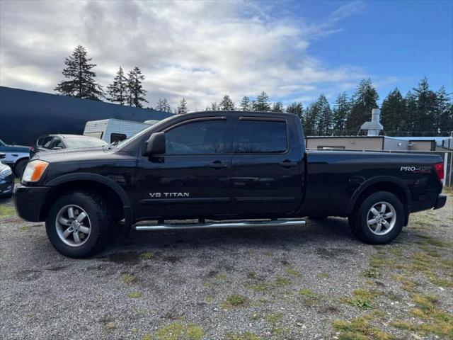
[[[371,78],[379,102],[428,77],[453,92],[453,1],[0,1],[0,85],[55,93],[83,45],[106,88],[138,66],[149,106],[333,103]]]

